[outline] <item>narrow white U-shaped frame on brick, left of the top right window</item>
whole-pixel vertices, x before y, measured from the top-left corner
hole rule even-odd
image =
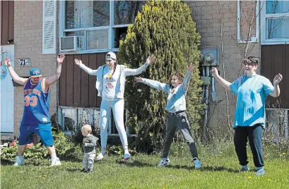
[[[240,20],[241,20],[241,6],[240,6],[241,1],[237,0],[237,42],[238,43],[247,43],[247,40],[242,40],[241,39],[241,28],[240,28]],[[249,42],[259,42],[259,0],[256,0],[256,8],[255,8],[255,13],[256,13],[256,19],[255,19],[255,37],[251,37]]]

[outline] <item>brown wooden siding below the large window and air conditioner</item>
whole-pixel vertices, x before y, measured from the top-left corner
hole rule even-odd
[[[95,70],[105,64],[105,53],[66,55],[59,78],[59,106],[100,107],[96,76],[85,73],[74,59],[81,59],[85,66]]]

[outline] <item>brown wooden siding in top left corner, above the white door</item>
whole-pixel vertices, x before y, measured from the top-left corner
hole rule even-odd
[[[14,1],[1,1],[1,45],[14,40]]]

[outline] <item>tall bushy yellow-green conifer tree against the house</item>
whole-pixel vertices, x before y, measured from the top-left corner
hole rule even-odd
[[[185,74],[189,63],[194,71],[187,92],[187,115],[191,130],[199,128],[201,80],[199,79],[199,45],[196,23],[191,9],[183,1],[148,1],[129,26],[124,42],[120,42],[119,63],[138,68],[154,54],[155,62],[141,74],[142,78],[167,83],[175,72]],[[126,78],[126,126],[137,133],[136,147],[142,152],[159,150],[163,146],[167,94]]]

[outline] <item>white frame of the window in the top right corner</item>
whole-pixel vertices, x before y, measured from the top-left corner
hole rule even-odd
[[[265,0],[264,6],[261,9],[261,44],[289,44],[289,39],[275,38],[275,39],[266,39],[266,18],[289,18],[289,13],[270,13],[266,14],[266,5],[267,1]]]

